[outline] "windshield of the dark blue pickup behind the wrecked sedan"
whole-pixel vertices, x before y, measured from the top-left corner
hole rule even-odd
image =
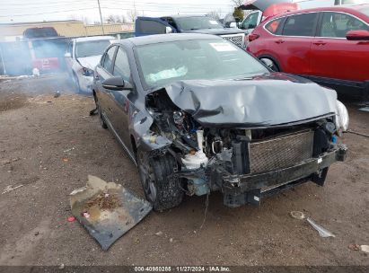
[[[196,31],[204,29],[223,29],[223,25],[213,18],[205,16],[194,17],[180,17],[175,21],[182,31]]]

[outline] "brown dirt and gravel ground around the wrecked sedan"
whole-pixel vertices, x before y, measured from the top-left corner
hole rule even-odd
[[[0,265],[369,265],[352,243],[369,244],[369,138],[346,134],[345,163],[326,186],[303,184],[231,209],[212,193],[152,212],[109,251],[71,216],[68,194],[92,174],[143,197],[136,167],[97,117],[91,97],[68,92],[63,76],[0,84]],[[62,95],[54,98],[53,92]],[[351,128],[369,135],[369,112],[350,105]],[[335,233],[321,238],[292,218],[303,211]],[[162,232],[161,235],[155,233]]]

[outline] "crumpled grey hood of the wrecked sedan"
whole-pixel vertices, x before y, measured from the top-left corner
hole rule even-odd
[[[191,80],[165,87],[171,101],[203,126],[262,128],[336,112],[337,93],[299,76]]]

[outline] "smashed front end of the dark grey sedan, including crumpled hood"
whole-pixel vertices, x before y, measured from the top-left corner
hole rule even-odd
[[[322,186],[329,165],[345,160],[339,103],[336,92],[283,74],[180,81],[146,96],[150,119],[137,123],[150,126],[139,145],[171,154],[171,176],[189,195],[220,190],[227,207],[259,204],[305,181]]]

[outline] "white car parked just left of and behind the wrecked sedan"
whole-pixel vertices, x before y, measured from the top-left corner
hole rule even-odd
[[[76,92],[92,92],[92,77],[112,36],[94,36],[70,40],[66,48],[67,71],[75,84]]]

